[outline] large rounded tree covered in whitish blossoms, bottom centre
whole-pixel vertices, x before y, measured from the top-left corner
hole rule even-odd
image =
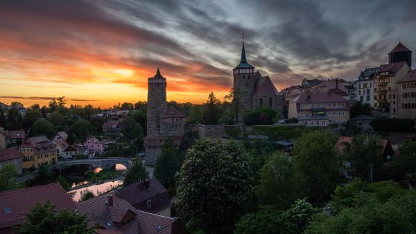
[[[254,198],[250,160],[234,140],[198,140],[178,176],[177,211],[206,233],[230,233]]]

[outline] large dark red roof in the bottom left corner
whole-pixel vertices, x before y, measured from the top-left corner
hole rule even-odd
[[[75,210],[76,203],[59,183],[0,192],[0,229],[19,224],[36,203],[51,201],[57,211]]]

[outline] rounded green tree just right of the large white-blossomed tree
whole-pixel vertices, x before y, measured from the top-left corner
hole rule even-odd
[[[261,168],[257,194],[261,203],[284,210],[303,197],[302,184],[289,156],[275,154]]]

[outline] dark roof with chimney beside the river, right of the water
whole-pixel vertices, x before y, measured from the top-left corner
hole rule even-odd
[[[126,187],[122,187],[116,193],[128,201],[132,206],[139,210],[147,212],[159,212],[171,205],[168,191],[157,180],[157,178],[149,179],[149,187],[146,188],[144,181],[133,183]],[[150,207],[147,206],[146,201],[152,200]]]

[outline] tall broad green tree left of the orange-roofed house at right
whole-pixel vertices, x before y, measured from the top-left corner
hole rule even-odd
[[[315,205],[323,205],[338,184],[341,161],[331,131],[310,131],[297,139],[293,164],[304,178],[304,191]]]

